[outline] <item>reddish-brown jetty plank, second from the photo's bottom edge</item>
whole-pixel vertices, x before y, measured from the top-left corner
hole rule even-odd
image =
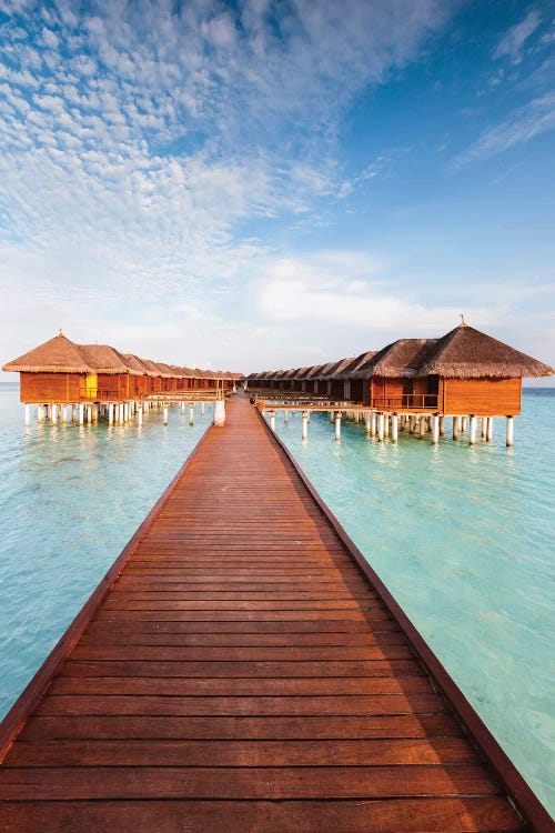
[[[0,769],[0,801],[111,799],[381,799],[495,795],[473,764],[438,766]]]

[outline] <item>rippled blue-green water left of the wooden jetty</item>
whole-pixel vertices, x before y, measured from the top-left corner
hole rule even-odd
[[[211,421],[199,405],[141,429],[23,428],[0,384],[0,717],[82,608]]]

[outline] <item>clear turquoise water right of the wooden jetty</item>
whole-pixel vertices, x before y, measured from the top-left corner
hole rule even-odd
[[[320,494],[541,800],[555,811],[555,390],[526,393],[505,448],[276,415]],[[446,428],[451,432],[451,420]]]

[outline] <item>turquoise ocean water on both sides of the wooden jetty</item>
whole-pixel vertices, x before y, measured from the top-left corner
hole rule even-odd
[[[23,428],[0,384],[0,717],[211,421]],[[446,420],[450,428],[450,421]],[[327,416],[276,431],[372,566],[555,812],[555,389],[525,394],[514,449],[369,439]]]

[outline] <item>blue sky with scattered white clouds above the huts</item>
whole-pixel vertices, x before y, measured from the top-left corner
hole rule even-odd
[[[0,0],[1,361],[555,364],[554,151],[548,0]]]

